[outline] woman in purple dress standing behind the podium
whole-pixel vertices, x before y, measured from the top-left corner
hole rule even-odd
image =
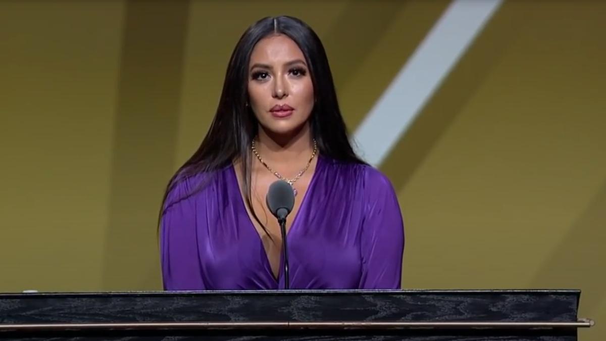
[[[400,288],[404,227],[390,181],[353,152],[324,47],[288,16],[252,25],[219,107],[171,178],[161,212],[166,290],[284,288],[271,183],[295,192],[290,288]]]

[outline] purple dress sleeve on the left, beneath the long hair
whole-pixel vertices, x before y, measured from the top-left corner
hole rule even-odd
[[[205,289],[199,267],[195,204],[191,200],[178,200],[187,187],[184,181],[170,192],[167,203],[177,203],[166,208],[161,219],[162,282],[169,291]]]

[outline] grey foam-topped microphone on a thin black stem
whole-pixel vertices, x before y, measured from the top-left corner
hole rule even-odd
[[[286,245],[286,217],[293,211],[295,206],[295,192],[293,187],[284,180],[278,180],[269,186],[265,203],[271,214],[278,218],[282,232],[282,251],[284,252],[284,279],[285,288],[290,288],[288,277],[288,247]]]

